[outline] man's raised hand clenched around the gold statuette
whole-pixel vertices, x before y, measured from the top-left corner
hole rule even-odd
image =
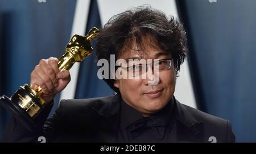
[[[68,70],[60,72],[58,60],[55,57],[40,60],[39,64],[31,72],[30,85],[32,89],[42,88],[41,97],[47,103],[51,102],[55,95],[63,90],[71,80]]]

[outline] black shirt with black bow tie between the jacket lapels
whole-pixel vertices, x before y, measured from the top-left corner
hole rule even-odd
[[[168,142],[171,141],[172,110],[174,101],[158,113],[144,117],[121,99],[118,142]]]

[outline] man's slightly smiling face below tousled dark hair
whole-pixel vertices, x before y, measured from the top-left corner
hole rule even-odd
[[[147,52],[139,54],[135,49],[124,51],[118,59],[170,59],[171,56],[165,55],[160,49],[147,48]],[[119,79],[115,80],[114,86],[119,88],[122,99],[128,105],[139,111],[144,116],[156,113],[163,109],[174,94],[176,84],[176,73],[172,61],[171,68],[159,72],[157,84],[149,84],[152,78],[147,76],[142,79]]]

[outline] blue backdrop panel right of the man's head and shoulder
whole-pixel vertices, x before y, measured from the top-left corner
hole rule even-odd
[[[256,1],[176,2],[199,106],[229,119],[237,141],[256,141]]]

